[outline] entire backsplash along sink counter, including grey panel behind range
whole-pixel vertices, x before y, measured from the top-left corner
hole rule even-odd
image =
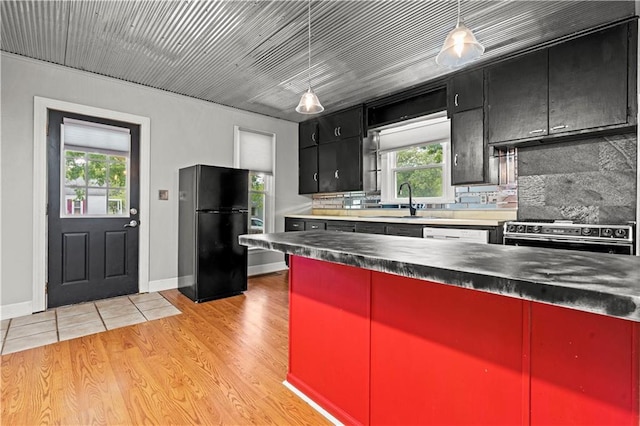
[[[501,185],[458,186],[455,202],[420,209],[517,209],[518,219],[580,223],[636,220],[635,133],[512,149],[500,158]],[[380,204],[380,192],[316,194],[312,208],[406,208]]]

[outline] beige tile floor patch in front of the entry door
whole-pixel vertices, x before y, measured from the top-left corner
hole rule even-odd
[[[63,306],[0,321],[0,353],[10,354],[179,313],[160,293]]]

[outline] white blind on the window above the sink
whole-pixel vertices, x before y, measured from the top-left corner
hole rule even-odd
[[[442,113],[424,120],[380,131],[379,151],[397,151],[401,148],[429,143],[449,142],[451,126]]]

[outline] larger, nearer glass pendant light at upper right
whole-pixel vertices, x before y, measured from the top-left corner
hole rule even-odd
[[[460,19],[460,0],[458,0],[458,22],[444,40],[436,62],[442,66],[460,67],[476,60],[483,53],[484,46],[478,43],[476,36]]]

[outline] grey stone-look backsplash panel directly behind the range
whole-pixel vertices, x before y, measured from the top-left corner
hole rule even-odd
[[[518,219],[636,220],[637,136],[518,150]]]

